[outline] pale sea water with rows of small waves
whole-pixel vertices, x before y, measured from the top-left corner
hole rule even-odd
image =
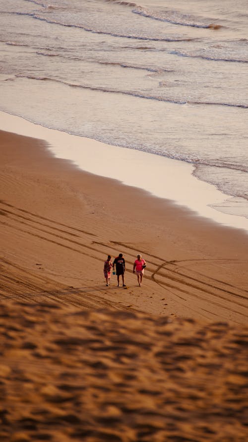
[[[0,12],[0,110],[190,163],[231,196],[218,210],[248,217],[247,1],[1,0]]]

